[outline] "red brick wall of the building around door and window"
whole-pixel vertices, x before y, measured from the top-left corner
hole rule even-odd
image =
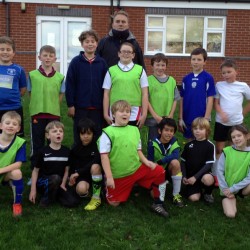
[[[57,5],[39,6],[56,7]],[[71,8],[84,8],[72,6]],[[92,9],[92,28],[100,38],[110,29],[110,7],[86,6]],[[36,4],[26,3],[26,12],[21,13],[20,3],[10,3],[10,36],[17,45],[15,62],[22,65],[26,72],[36,67]],[[130,16],[130,28],[144,49],[145,8],[126,7]],[[227,16],[226,57],[234,57],[239,66],[238,79],[250,83],[250,10],[229,10]],[[0,35],[6,34],[5,5],[0,4]],[[22,54],[19,54],[21,52]],[[215,81],[221,80],[219,66],[224,58],[209,58],[205,69],[212,73]],[[150,57],[145,57],[148,74],[151,74]],[[178,83],[190,72],[189,57],[170,57],[168,73],[174,76]]]

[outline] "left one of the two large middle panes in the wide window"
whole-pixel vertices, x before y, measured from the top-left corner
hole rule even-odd
[[[184,18],[167,18],[167,53],[183,53]]]

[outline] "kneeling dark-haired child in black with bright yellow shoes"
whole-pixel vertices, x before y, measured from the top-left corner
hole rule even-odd
[[[95,210],[101,205],[102,170],[101,159],[97,149],[95,124],[88,118],[81,119],[77,126],[80,137],[78,143],[70,152],[69,185],[74,186],[80,197],[89,194],[92,186],[92,198],[85,210]]]

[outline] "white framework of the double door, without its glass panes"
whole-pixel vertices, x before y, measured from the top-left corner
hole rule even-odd
[[[62,46],[60,46],[60,60],[57,59],[57,63],[60,64],[60,72],[64,75],[66,75],[68,70],[68,64],[70,63],[70,60],[67,58],[67,51],[68,48],[68,39],[67,39],[67,30],[68,30],[68,23],[69,22],[86,22],[88,29],[91,28],[91,22],[92,18],[89,17],[61,17],[61,16],[37,16],[37,39],[36,39],[36,50],[37,50],[37,59],[36,59],[36,66],[37,68],[41,64],[41,62],[38,59],[39,50],[42,46],[42,21],[52,21],[52,22],[60,22],[60,41],[62,43]],[[79,42],[80,44],[80,42]]]

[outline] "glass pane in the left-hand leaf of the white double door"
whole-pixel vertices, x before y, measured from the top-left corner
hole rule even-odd
[[[42,21],[42,46],[51,45],[56,49],[56,57],[60,60],[60,22]]]

